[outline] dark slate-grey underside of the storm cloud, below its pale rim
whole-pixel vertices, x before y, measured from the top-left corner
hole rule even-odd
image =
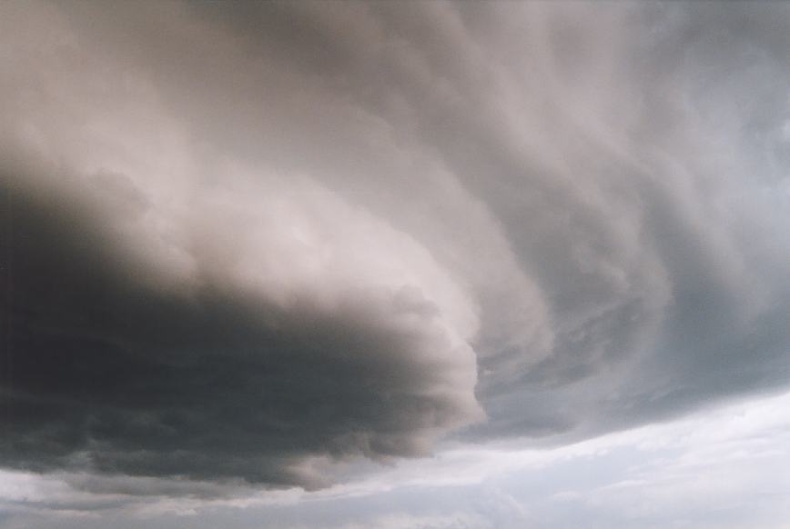
[[[316,486],[306,456],[421,454],[462,415],[424,390],[441,366],[402,353],[419,334],[352,305],[161,292],[76,208],[3,193],[6,467]]]

